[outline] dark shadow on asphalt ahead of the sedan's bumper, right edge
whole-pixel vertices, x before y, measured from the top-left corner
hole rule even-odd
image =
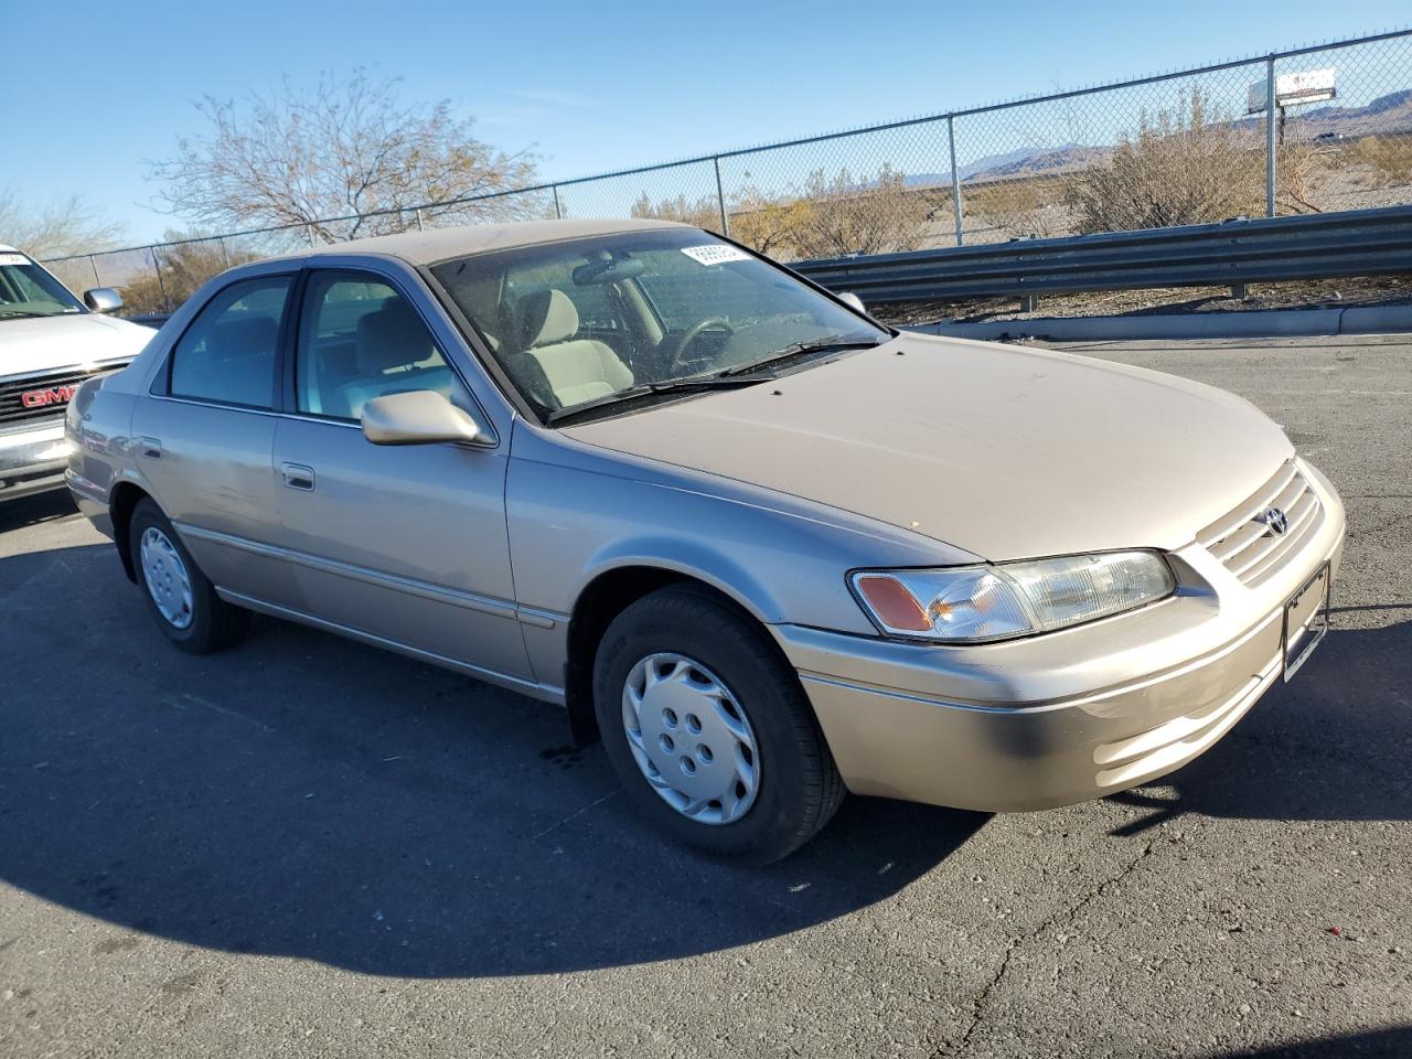
[[[1351,630],[1336,618],[1308,665],[1272,688],[1207,754],[1149,788],[1114,795],[1148,810],[1114,834],[1186,813],[1412,820],[1409,688],[1412,621]]]

